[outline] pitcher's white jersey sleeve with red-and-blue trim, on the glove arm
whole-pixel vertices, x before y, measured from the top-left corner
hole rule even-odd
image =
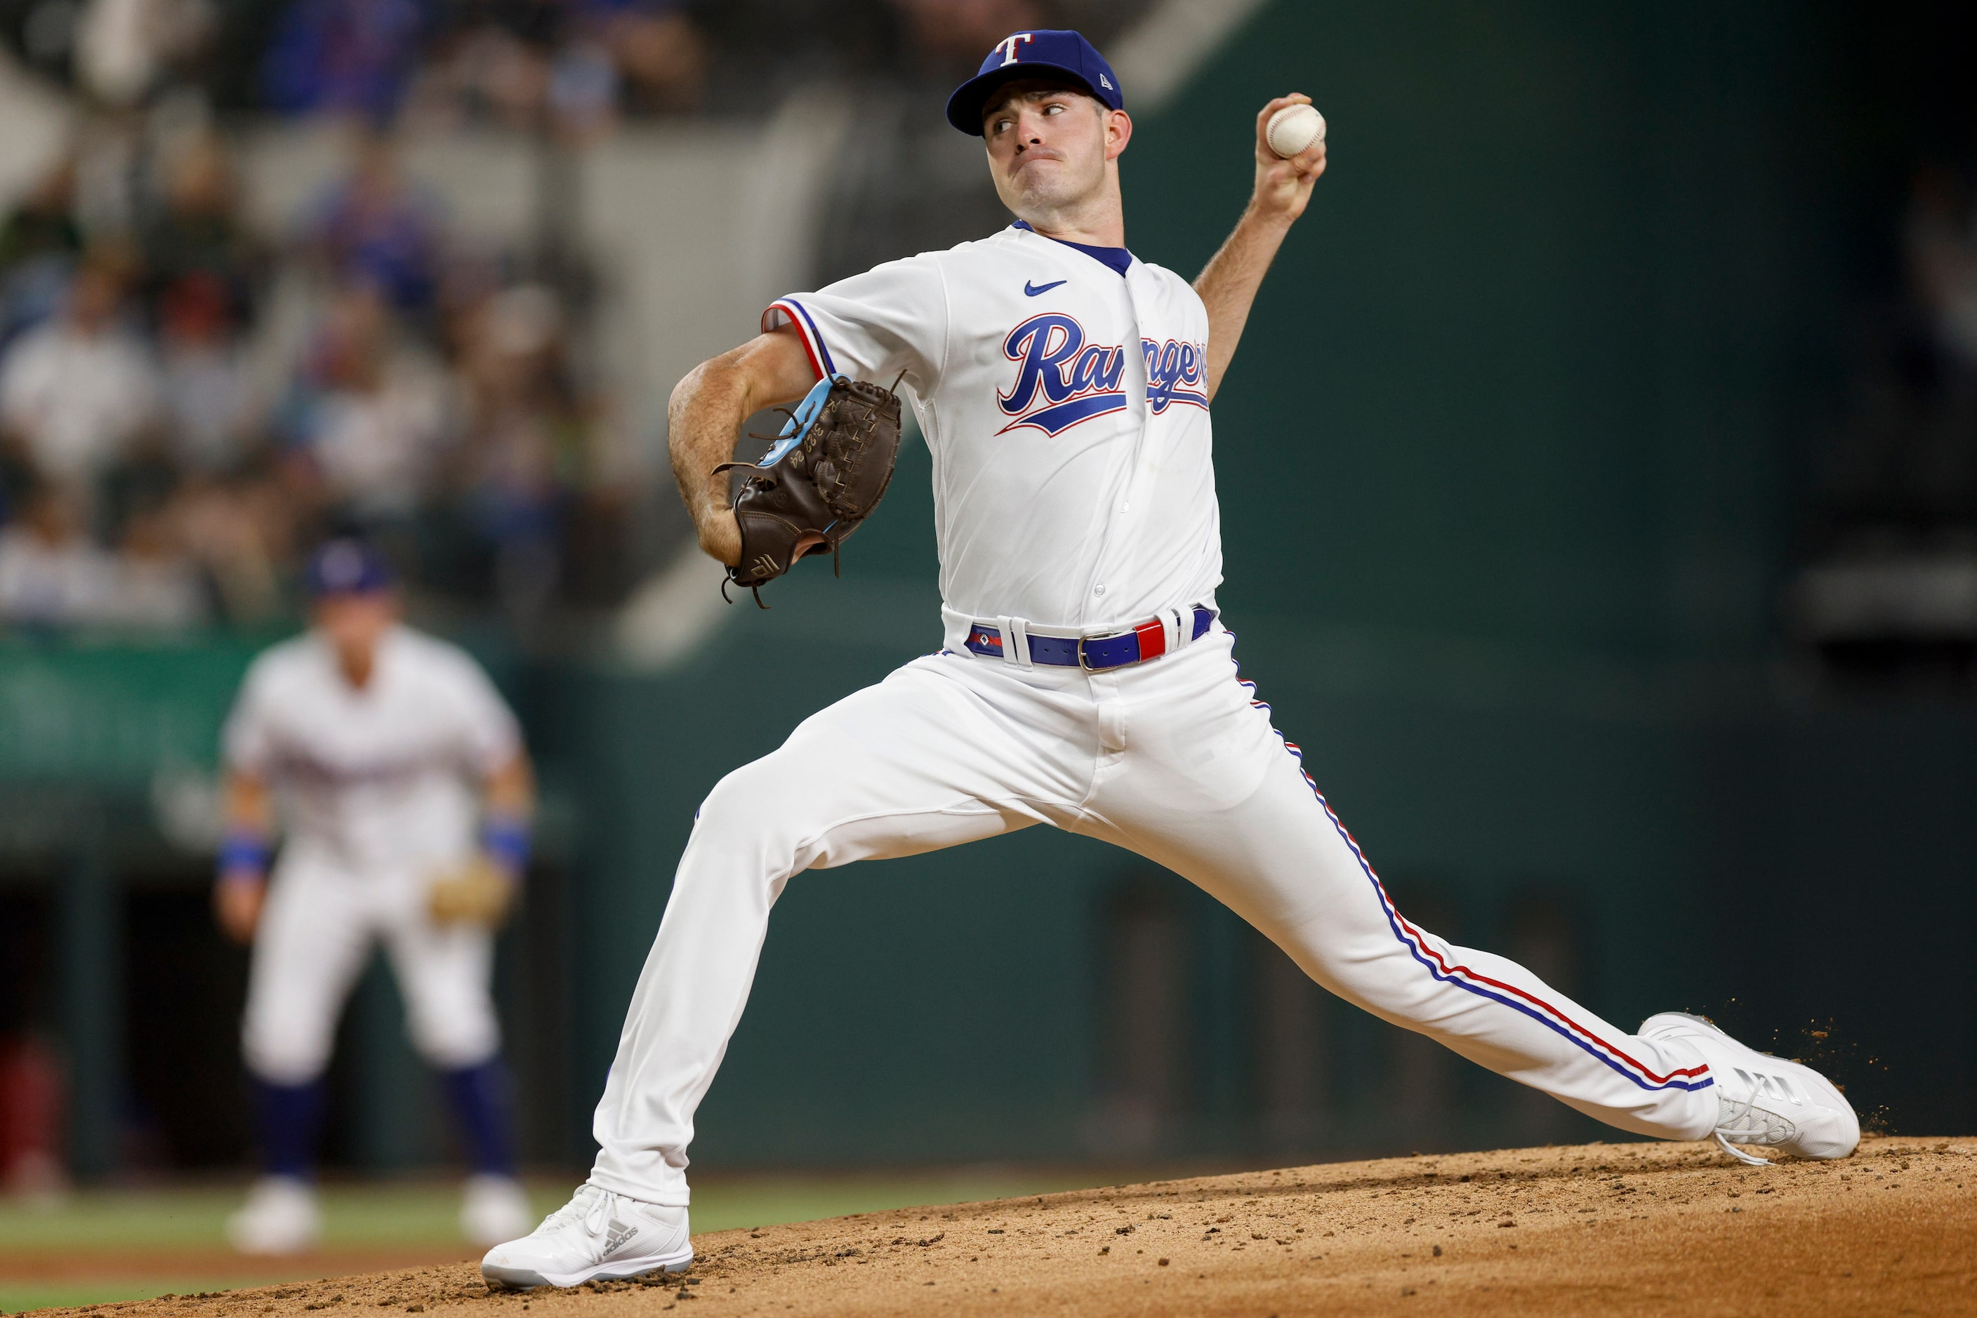
[[[811,370],[892,387],[905,371],[921,395],[947,360],[947,283],[931,255],[888,261],[817,292],[791,292],[761,314],[763,334],[793,324]]]

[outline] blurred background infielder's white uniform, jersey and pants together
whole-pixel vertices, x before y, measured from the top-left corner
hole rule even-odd
[[[407,626],[380,640],[362,688],[314,634],[253,662],[225,759],[281,792],[287,844],[247,976],[249,1071],[275,1085],[322,1073],[344,996],[378,939],[429,1063],[457,1071],[500,1049],[494,937],[435,925],[427,889],[474,854],[476,788],[520,747],[514,713],[480,666]]]

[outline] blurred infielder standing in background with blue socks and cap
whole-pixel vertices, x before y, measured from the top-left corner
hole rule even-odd
[[[445,1079],[473,1176],[461,1231],[526,1231],[512,1081],[488,996],[494,927],[528,862],[534,786],[514,715],[457,646],[403,626],[389,569],[352,539],[308,565],[314,626],[261,654],[225,725],[221,927],[253,941],[241,1047],[263,1176],[227,1235],[318,1235],[312,1162],[336,1018],[384,943],[419,1055]],[[287,842],[269,879],[279,794]]]

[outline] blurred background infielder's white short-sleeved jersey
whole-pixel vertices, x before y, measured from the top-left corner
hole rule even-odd
[[[225,725],[227,765],[283,796],[283,864],[301,854],[362,873],[425,873],[467,856],[474,788],[520,745],[480,666],[409,626],[386,632],[362,688],[314,632],[273,646]]]

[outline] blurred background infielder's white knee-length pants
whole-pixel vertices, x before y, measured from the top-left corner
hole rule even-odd
[[[500,1049],[494,935],[435,925],[425,913],[429,877],[283,852],[247,970],[241,1051],[255,1077],[301,1085],[322,1075],[344,998],[378,941],[405,1000],[405,1031],[429,1065],[474,1067]]]

